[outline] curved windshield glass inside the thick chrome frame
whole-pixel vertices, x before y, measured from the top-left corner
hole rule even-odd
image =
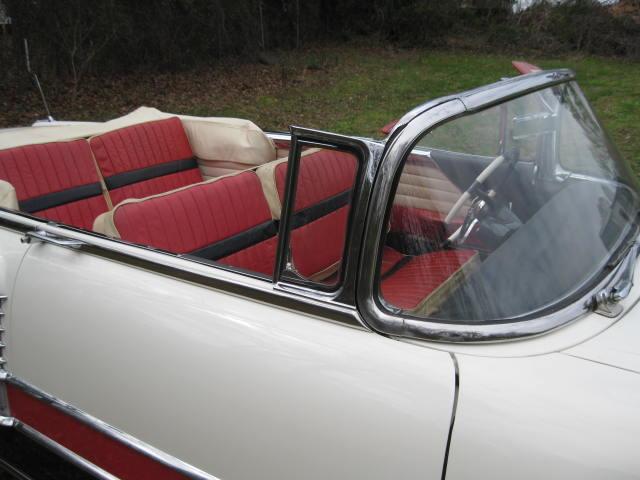
[[[381,303],[460,323],[547,313],[610,270],[637,211],[633,175],[575,84],[457,118],[404,159]]]

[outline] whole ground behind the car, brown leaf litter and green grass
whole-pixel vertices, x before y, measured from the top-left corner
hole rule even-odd
[[[75,96],[51,87],[58,119],[106,120],[147,105],[192,115],[253,120],[266,130],[291,124],[346,134],[379,128],[440,95],[512,76],[512,56],[397,50],[362,45],[272,54],[263,62],[197,71],[86,79]],[[640,173],[640,63],[593,57],[526,57],[544,68],[569,67],[623,155]],[[35,91],[0,99],[0,127],[42,118]]]

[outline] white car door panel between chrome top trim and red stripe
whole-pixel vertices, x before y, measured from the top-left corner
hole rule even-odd
[[[447,353],[38,243],[8,331],[13,374],[212,475],[440,478]]]

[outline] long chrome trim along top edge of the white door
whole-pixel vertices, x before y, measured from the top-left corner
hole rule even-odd
[[[311,289],[276,289],[268,278],[251,272],[240,272],[221,264],[212,265],[205,260],[194,260],[108,238],[94,232],[52,222],[46,223],[42,219],[2,208],[0,208],[0,228],[25,234],[31,230],[40,230],[67,240],[77,240],[83,245],[71,247],[76,252],[107,258],[178,280],[302,312],[333,323],[369,330],[361,320],[355,305],[327,301],[323,295]],[[56,248],[70,247],[57,245]]]

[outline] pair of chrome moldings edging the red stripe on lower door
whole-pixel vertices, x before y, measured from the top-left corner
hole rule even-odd
[[[93,417],[92,415],[89,415],[88,413],[74,407],[73,405],[70,405],[58,398],[55,398],[43,392],[37,387],[11,374],[6,375],[3,381],[11,383],[11,385],[21,389],[25,393],[60,410],[64,414],[69,415],[70,417],[78,420],[79,422],[90,426],[91,428],[102,433],[103,435],[125,445],[131,450],[134,450],[142,455],[145,455],[146,457],[151,458],[152,460],[162,465],[165,465],[166,467],[169,467],[172,470],[175,470],[176,472],[182,475],[185,475],[188,478],[202,479],[202,480],[216,480],[216,477],[214,477],[213,475],[210,475],[192,465],[189,465],[181,460],[178,460],[177,458],[167,453],[164,453],[158,450],[157,448],[152,447],[151,445],[148,445],[145,442],[142,442],[141,440],[138,440],[137,438],[132,437],[127,433],[124,433],[118,430],[117,428]],[[58,453],[59,455],[63,456],[64,458],[70,460],[72,463],[74,463],[78,467],[83,468],[84,470],[92,474],[95,474],[99,478],[105,478],[105,479],[116,478],[111,474],[105,472],[101,468],[95,466],[93,463],[88,462],[87,460],[79,457],[78,455],[73,453],[71,450],[63,447],[62,445],[59,445],[57,442],[54,442],[50,438],[37,432],[36,430],[29,427],[28,425],[23,424],[22,422],[20,422],[19,419],[14,419],[13,417],[0,417],[0,422],[2,421],[2,418],[5,419],[5,422],[7,423],[6,426],[17,428],[20,432],[36,440],[37,442],[39,442],[41,445],[48,448],[49,450],[52,450]]]

